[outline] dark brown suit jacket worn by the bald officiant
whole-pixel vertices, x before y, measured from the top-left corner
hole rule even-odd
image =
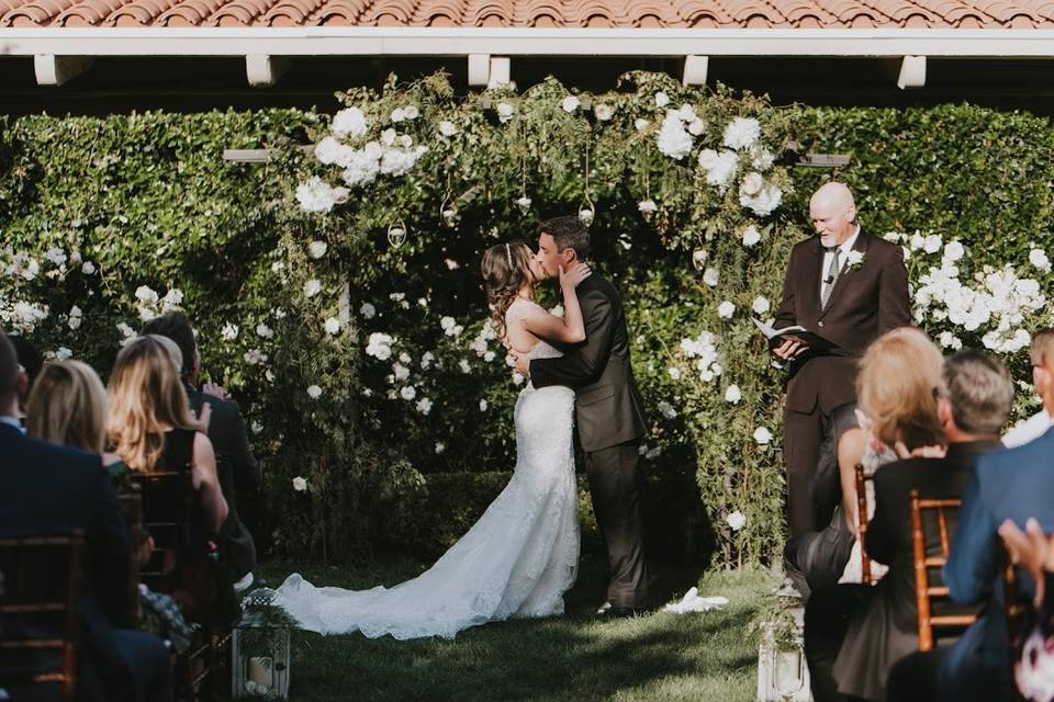
[[[811,412],[819,403],[828,414],[853,401],[856,365],[864,350],[884,332],[911,324],[900,247],[861,229],[853,250],[864,254],[863,262],[855,269],[848,261],[843,264],[822,309],[820,238],[809,237],[790,250],[775,327],[800,325],[839,348],[830,354],[806,352],[790,363],[787,409]]]

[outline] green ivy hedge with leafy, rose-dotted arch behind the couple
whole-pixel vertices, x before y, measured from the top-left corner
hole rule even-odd
[[[708,129],[695,146],[720,148],[724,125],[758,120],[778,210],[747,213],[735,185],[710,186],[695,152],[657,149],[669,118],[659,93],[694,105]],[[808,195],[832,176],[781,161],[790,141],[852,156],[838,176],[863,225],[905,245],[919,321],[948,348],[998,349],[1021,386],[1019,415],[1034,406],[1021,335],[1051,321],[1045,118],[972,105],[776,110],[654,75],[606,95],[549,81],[458,99],[439,76],[343,99],[375,122],[413,105],[422,116],[395,122],[414,122],[405,133],[428,151],[328,214],[296,204],[298,183],[324,169],[295,145],[330,134],[329,115],[0,120],[2,324],[105,376],[143,319],[186,309],[205,376],[234,392],[251,426],[265,486],[245,511],[272,556],[435,555],[471,524],[512,468],[519,390],[484,325],[479,254],[590,207],[653,424],[641,463],[652,552],[771,561],[783,539],[784,376],[750,316],[774,310],[787,252],[807,236]],[[502,100],[515,106],[509,124]],[[456,135],[429,136],[440,122]],[[267,162],[221,158],[265,147]],[[745,245],[750,227],[760,240]],[[406,236],[397,248],[394,229]],[[952,287],[976,297],[965,319],[943,299]],[[977,319],[990,299],[1006,308]]]

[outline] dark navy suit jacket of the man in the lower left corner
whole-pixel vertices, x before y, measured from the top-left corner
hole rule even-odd
[[[0,532],[85,532],[79,700],[135,698],[111,629],[125,626],[131,551],[98,454],[29,439],[0,423]]]

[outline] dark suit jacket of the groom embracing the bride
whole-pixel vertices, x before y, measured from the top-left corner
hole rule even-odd
[[[530,362],[535,387],[565,385],[575,393],[579,439],[599,451],[640,438],[644,404],[629,360],[629,332],[618,292],[598,273],[575,290],[585,320],[585,341],[564,348],[560,359]]]

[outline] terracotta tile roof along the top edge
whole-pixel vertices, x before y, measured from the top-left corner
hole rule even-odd
[[[1054,29],[1054,0],[0,0],[3,26]]]

